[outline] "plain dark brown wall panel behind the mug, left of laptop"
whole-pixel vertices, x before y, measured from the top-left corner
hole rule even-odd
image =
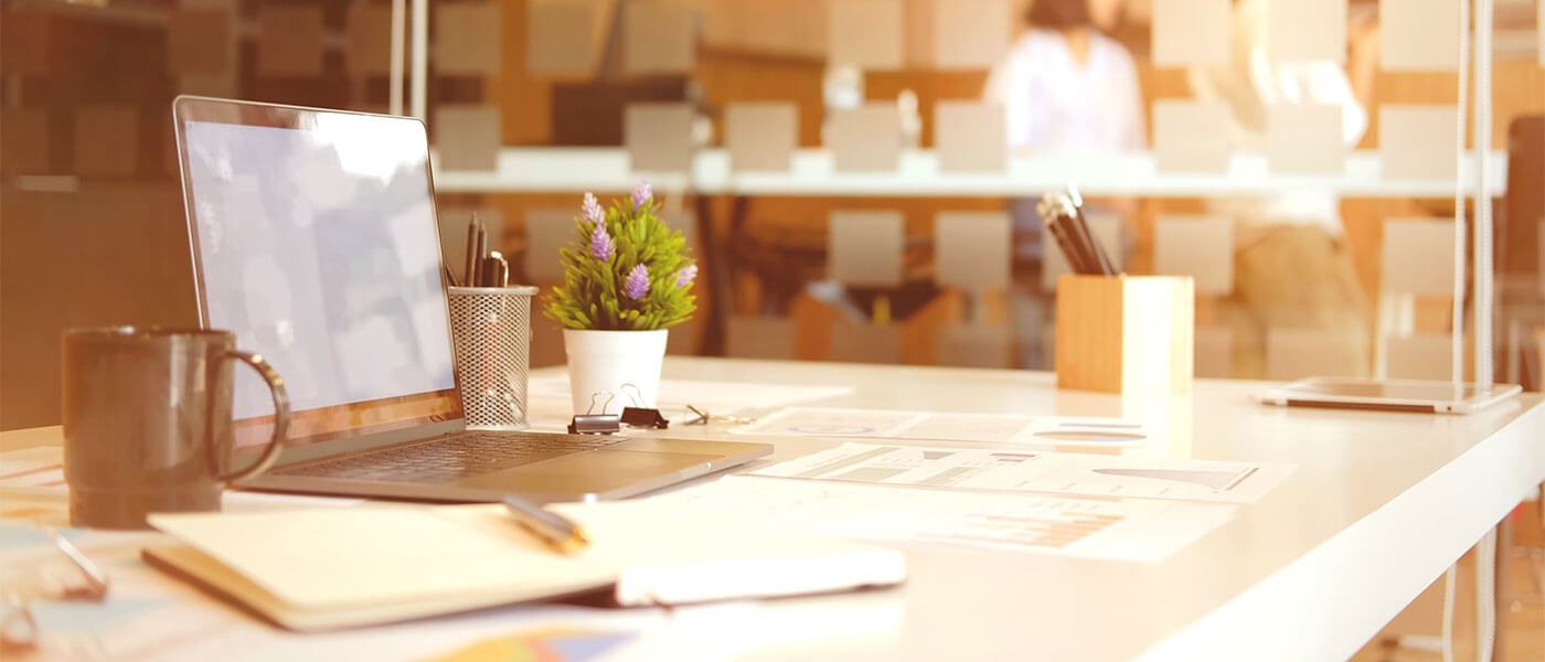
[[[198,326],[175,187],[8,191],[0,252],[0,429],[59,423],[60,330]]]

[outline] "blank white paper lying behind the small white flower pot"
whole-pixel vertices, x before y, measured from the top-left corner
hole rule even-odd
[[[686,409],[688,404],[709,414],[742,414],[746,410],[772,409],[820,398],[836,398],[851,393],[851,386],[811,384],[754,384],[739,381],[661,380],[660,409]],[[569,375],[535,378],[527,384],[533,401],[562,401],[562,410],[570,407]],[[627,406],[626,395],[618,393],[612,403],[613,414]]]

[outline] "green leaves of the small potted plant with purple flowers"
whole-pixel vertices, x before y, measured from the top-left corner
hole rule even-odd
[[[562,248],[564,284],[547,299],[545,315],[564,329],[654,330],[669,329],[692,318],[697,298],[692,285],[677,287],[678,273],[694,264],[686,239],[660,221],[654,201],[638,210],[632,201],[615,202],[606,210],[606,230],[615,250],[599,261],[592,255],[595,224],[575,218],[575,236]],[[635,301],[624,292],[629,272],[643,264],[649,270],[649,292]]]

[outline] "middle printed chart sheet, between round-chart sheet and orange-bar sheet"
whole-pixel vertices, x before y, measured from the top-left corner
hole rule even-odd
[[[1292,464],[847,443],[751,475],[986,492],[1253,503]]]

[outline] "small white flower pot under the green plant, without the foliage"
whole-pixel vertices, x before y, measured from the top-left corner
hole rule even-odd
[[[621,414],[623,407],[654,407],[660,393],[660,366],[666,358],[669,329],[647,332],[612,332],[564,329],[564,353],[569,355],[569,390],[573,412]]]

